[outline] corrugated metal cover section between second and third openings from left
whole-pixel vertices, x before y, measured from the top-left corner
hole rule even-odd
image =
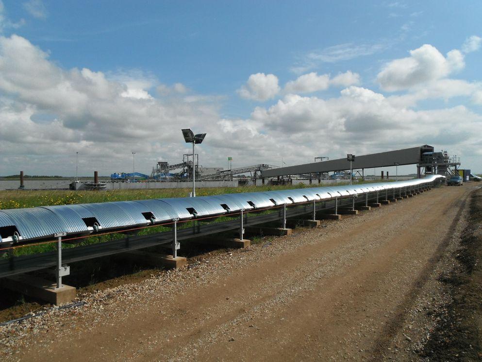
[[[81,206],[92,212],[103,229],[114,229],[124,226],[144,224],[139,217],[136,217],[136,215],[131,216],[122,207],[117,206],[117,203],[118,202],[106,202],[82,204]]]

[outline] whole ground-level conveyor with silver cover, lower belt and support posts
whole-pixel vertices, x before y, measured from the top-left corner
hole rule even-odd
[[[68,275],[68,267],[62,266],[62,241],[72,242],[104,233],[127,234],[127,243],[125,240],[115,240],[66,249],[64,262],[97,258],[160,244],[171,244],[173,257],[176,257],[180,248],[178,241],[181,239],[239,229],[239,239],[243,240],[244,224],[247,223],[262,224],[281,218],[284,228],[286,217],[312,213],[316,220],[316,211],[334,208],[336,214],[342,202],[345,202],[345,205],[348,202],[349,206],[354,208],[355,199],[357,203],[368,205],[368,199],[376,197],[378,203],[380,193],[386,200],[389,196],[395,198],[397,194],[402,196],[412,190],[440,184],[444,179],[441,175],[429,175],[422,179],[352,186],[0,210],[0,250],[2,247],[7,249],[20,244],[53,239],[58,242],[57,252],[0,260],[0,277],[56,265],[57,284],[61,286],[62,276]],[[277,209],[279,213],[247,218],[247,213],[269,209]],[[219,216],[239,220],[209,223]],[[178,230],[179,223],[188,221],[193,222],[192,228]],[[200,224],[204,226],[201,227]],[[157,225],[172,227],[173,231],[132,236],[136,230]]]

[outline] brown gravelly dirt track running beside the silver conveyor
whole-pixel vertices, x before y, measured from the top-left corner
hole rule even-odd
[[[16,340],[23,348],[2,353],[24,361],[386,359],[472,190],[434,189],[100,292],[82,310],[49,315],[48,331],[14,331],[27,333]],[[408,358],[409,341],[394,359]]]

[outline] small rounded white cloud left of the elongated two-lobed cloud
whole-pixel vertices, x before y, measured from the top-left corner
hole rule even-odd
[[[272,99],[280,91],[278,77],[274,74],[251,74],[246,85],[237,90],[241,98],[264,102]]]

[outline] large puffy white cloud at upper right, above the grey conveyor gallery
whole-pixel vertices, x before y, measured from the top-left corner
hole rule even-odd
[[[377,81],[384,90],[402,90],[444,78],[464,66],[464,56],[458,50],[444,57],[435,47],[425,44],[410,51],[409,57],[387,63]]]

